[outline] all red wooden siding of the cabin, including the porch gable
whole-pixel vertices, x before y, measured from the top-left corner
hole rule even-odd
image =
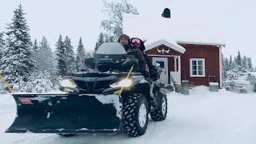
[[[181,79],[189,80],[190,86],[208,86],[209,76],[214,76],[210,81],[216,80],[220,82],[220,66],[219,66],[219,48],[218,46],[210,45],[194,45],[194,44],[184,44],[179,43],[186,49],[184,54],[179,53],[176,50],[170,50],[169,54],[158,53],[157,47],[153,49],[146,50],[146,54],[154,54],[162,57],[168,57],[170,55],[181,55]],[[159,50],[168,50],[169,47],[165,45],[158,46]],[[156,56],[158,57],[158,56]],[[205,58],[205,73],[206,77],[190,77],[190,58]],[[173,57],[168,57],[168,71],[174,70],[174,59]]]

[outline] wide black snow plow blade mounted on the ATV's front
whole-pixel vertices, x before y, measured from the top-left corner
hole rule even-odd
[[[106,133],[121,126],[118,95],[13,94],[17,116],[6,133]]]

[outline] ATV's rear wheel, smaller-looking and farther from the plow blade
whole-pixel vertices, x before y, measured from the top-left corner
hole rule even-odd
[[[166,94],[158,94],[158,108],[150,111],[150,116],[153,121],[163,121],[167,115],[167,98]]]

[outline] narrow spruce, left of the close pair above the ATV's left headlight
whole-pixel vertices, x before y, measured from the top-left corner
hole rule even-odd
[[[64,42],[62,41],[62,35],[59,35],[58,42],[56,43],[56,61],[57,61],[57,74],[59,76],[65,76],[67,74],[66,56]]]

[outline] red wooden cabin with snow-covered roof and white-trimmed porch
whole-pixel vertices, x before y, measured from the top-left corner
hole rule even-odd
[[[226,45],[217,40],[220,36],[207,34],[212,28],[171,18],[152,21],[152,18],[131,14],[124,15],[123,26],[124,33],[131,38],[146,41],[145,53],[153,63],[160,64],[164,82],[173,82],[176,86],[180,86],[182,80],[189,80],[190,86],[218,82],[221,87],[221,50]]]

